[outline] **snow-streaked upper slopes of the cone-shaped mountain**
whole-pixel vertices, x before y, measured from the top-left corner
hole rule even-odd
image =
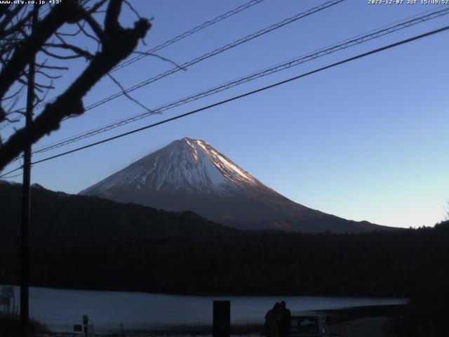
[[[100,193],[126,186],[149,190],[185,190],[232,195],[262,185],[203,140],[182,138],[114,173],[87,190]]]

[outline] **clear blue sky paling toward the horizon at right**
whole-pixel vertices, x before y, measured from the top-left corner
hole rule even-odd
[[[138,48],[145,51],[246,1],[132,2],[140,15],[154,18],[145,39],[147,46]],[[183,63],[323,2],[265,0],[164,48],[159,55]],[[140,88],[132,95],[150,108],[158,107],[434,8],[437,6],[408,5],[406,0],[402,5],[346,0]],[[123,7],[123,24],[130,25],[134,20],[135,14]],[[446,15],[415,25],[163,115],[37,155],[34,160],[173,117],[443,27],[448,22]],[[51,190],[76,193],[187,136],[206,140],[262,183],[313,209],[396,227],[434,225],[444,218],[449,197],[448,41],[449,32],[436,34],[192,117],[37,164],[32,169],[32,182]],[[74,62],[67,76],[58,82],[57,91],[65,88],[84,65],[83,61]],[[114,77],[128,87],[171,67],[168,62],[147,57],[115,72]],[[88,93],[85,105],[117,91],[119,88],[110,79],[103,79]],[[121,97],[65,121],[59,131],[36,146],[139,112],[141,107]],[[20,182],[20,177],[15,180]]]

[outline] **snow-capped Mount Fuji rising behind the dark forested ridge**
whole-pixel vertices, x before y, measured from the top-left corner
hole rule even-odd
[[[173,141],[80,194],[166,211],[191,210],[243,230],[363,232],[388,228],[297,204],[205,141],[191,138]]]

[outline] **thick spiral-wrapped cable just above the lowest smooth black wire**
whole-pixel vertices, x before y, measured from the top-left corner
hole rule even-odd
[[[117,128],[119,126],[123,126],[125,124],[129,124],[129,123],[131,123],[133,121],[137,121],[137,120],[143,119],[145,117],[149,117],[149,116],[151,116],[153,114],[159,114],[159,113],[161,113],[163,111],[170,110],[170,109],[173,109],[174,107],[178,107],[180,105],[184,105],[184,104],[190,103],[190,102],[192,102],[194,100],[199,100],[201,98],[205,98],[208,95],[213,95],[215,93],[219,93],[221,91],[225,91],[225,90],[227,90],[229,88],[232,88],[234,86],[239,86],[240,84],[246,83],[248,81],[253,81],[255,79],[259,79],[261,77],[265,77],[265,76],[267,76],[269,74],[274,74],[275,72],[280,72],[281,70],[289,69],[290,67],[294,67],[296,65],[300,65],[300,64],[302,64],[304,62],[307,62],[307,61],[310,61],[310,60],[314,60],[316,58],[319,58],[319,57],[324,56],[324,55],[328,55],[330,53],[334,53],[336,51],[340,51],[340,50],[342,50],[344,48],[349,48],[349,47],[355,46],[357,44],[362,44],[362,43],[364,43],[366,41],[370,41],[372,39],[377,39],[378,37],[383,37],[386,34],[391,34],[393,32],[396,32],[396,31],[400,30],[400,29],[404,29],[404,28],[410,27],[412,25],[416,25],[417,23],[425,22],[427,20],[431,20],[431,19],[434,19],[434,18],[438,18],[438,17],[440,17],[442,15],[447,15],[448,13],[449,13],[449,8],[445,8],[442,11],[432,12],[432,13],[429,13],[427,15],[423,15],[423,16],[421,16],[419,18],[414,18],[413,20],[408,20],[406,22],[402,22],[400,24],[397,24],[397,25],[394,25],[394,26],[391,26],[391,27],[387,27],[387,28],[380,29],[380,30],[377,30],[377,31],[372,31],[372,33],[370,33],[370,34],[365,34],[365,35],[361,35],[359,37],[356,37],[354,39],[345,40],[344,42],[342,42],[340,44],[334,44],[334,45],[329,46],[328,48],[323,48],[323,49],[321,49],[319,51],[315,51],[314,53],[301,55],[301,56],[299,56],[297,58],[294,58],[293,60],[288,60],[286,62],[283,62],[281,64],[275,65],[273,67],[266,68],[266,69],[261,70],[259,72],[254,72],[253,74],[249,74],[246,77],[241,77],[241,78],[236,79],[234,81],[229,81],[229,82],[227,82],[225,84],[221,84],[220,86],[215,86],[215,87],[210,88],[210,89],[208,89],[206,91],[201,91],[200,93],[196,93],[194,95],[188,96],[187,98],[182,98],[180,100],[173,101],[173,102],[168,103],[166,105],[162,105],[160,107],[157,107],[154,110],[151,110],[150,112],[145,111],[145,112],[142,112],[140,114],[136,114],[136,115],[134,115],[132,117],[128,117],[126,119],[121,119],[119,121],[115,121],[115,122],[107,124],[105,126],[100,126],[99,128],[95,128],[95,129],[93,129],[91,131],[87,131],[85,133],[80,133],[79,135],[73,136],[71,138],[67,138],[65,140],[60,140],[58,142],[55,142],[55,143],[52,143],[52,144],[49,144],[49,145],[45,145],[43,147],[40,147],[40,148],[37,148],[36,150],[34,150],[33,154],[54,150],[55,148],[62,147],[62,146],[68,145],[70,143],[74,143],[76,141],[83,140],[85,138],[89,138],[91,136],[98,135],[99,133],[103,133],[103,132],[112,130],[113,128]]]

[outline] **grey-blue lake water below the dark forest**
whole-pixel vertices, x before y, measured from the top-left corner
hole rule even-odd
[[[15,287],[15,303],[20,303]],[[86,291],[31,287],[30,316],[56,332],[73,331],[88,315],[95,333],[155,329],[176,324],[212,324],[213,300],[231,300],[234,324],[262,322],[274,303],[286,300],[292,314],[363,305],[406,303],[406,298],[322,296],[179,296],[121,291]]]

